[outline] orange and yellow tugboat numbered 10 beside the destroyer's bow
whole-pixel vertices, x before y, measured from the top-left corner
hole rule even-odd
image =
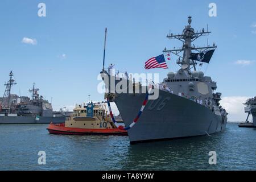
[[[65,135],[127,135],[114,125],[104,106],[90,102],[76,105],[74,113],[65,119],[65,123],[50,123],[47,130],[51,134]]]

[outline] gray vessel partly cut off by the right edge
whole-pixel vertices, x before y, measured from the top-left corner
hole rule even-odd
[[[248,113],[245,123],[240,123],[239,127],[256,127],[256,97],[249,98],[245,104],[245,113]],[[253,122],[249,122],[248,118],[250,114],[253,117]]]

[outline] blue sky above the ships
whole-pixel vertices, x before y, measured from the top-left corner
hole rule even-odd
[[[46,17],[38,16],[38,4],[46,3]],[[217,17],[208,15],[208,5],[217,5]],[[180,47],[168,40],[171,30],[180,33],[192,16],[192,27],[209,24],[209,43],[218,46],[205,75],[217,81],[224,106],[243,119],[238,101],[256,95],[256,1],[13,1],[0,6],[0,94],[13,70],[17,85],[13,93],[29,96],[32,83],[53,107],[73,106],[88,100],[103,100],[97,92],[97,75],[102,69],[104,28],[108,27],[106,64],[120,71],[142,73],[144,61],[162,53],[164,47]],[[22,43],[23,38],[36,44]],[[196,45],[204,46],[207,38]],[[63,56],[65,55],[65,56]],[[160,80],[169,70],[153,69]],[[240,60],[240,61],[239,61]],[[238,61],[238,62],[237,62]],[[241,63],[241,64],[236,64]],[[234,98],[230,100],[229,98]],[[240,100],[239,100],[240,99]],[[234,104],[236,103],[236,104]],[[234,105],[237,105],[236,108]],[[236,111],[234,111],[236,110]],[[238,115],[236,115],[238,114]]]

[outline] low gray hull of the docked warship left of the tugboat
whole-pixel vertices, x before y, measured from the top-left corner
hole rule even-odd
[[[47,124],[47,123],[64,123],[66,117],[40,117],[39,121],[35,117],[17,116],[17,117],[0,117],[1,124]]]

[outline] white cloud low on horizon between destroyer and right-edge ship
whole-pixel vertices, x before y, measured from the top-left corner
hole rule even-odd
[[[233,122],[244,122],[246,120],[247,114],[245,113],[243,103],[250,97],[245,96],[232,96],[232,97],[222,97],[220,101],[221,106],[226,109],[229,113],[228,121]],[[249,118],[249,121],[251,118]]]

